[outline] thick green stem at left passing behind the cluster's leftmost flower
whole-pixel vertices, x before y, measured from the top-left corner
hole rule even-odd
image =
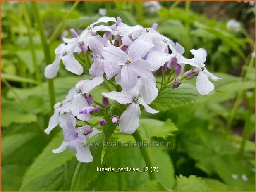
[[[45,30],[43,27],[43,21],[40,17],[39,14],[39,9],[37,6],[37,2],[36,1],[31,1],[31,5],[33,8],[33,13],[36,19],[36,22],[38,24],[38,30],[40,33],[40,37],[41,37],[41,42],[43,45],[43,52],[44,52],[44,56],[45,56],[45,63],[46,65],[51,63],[51,59],[50,59],[50,47],[47,43],[46,37],[45,37]],[[55,91],[54,91],[54,83],[53,83],[53,79],[48,79],[48,92],[49,92],[49,97],[50,97],[50,109],[52,111],[52,113],[54,112],[54,104],[55,104]]]

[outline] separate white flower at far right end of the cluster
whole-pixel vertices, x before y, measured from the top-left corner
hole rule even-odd
[[[205,68],[206,50],[199,48],[198,50],[192,49],[190,52],[194,55],[194,58],[187,60],[189,60],[190,65],[196,67],[196,70],[199,71],[196,79],[196,88],[201,95],[209,94],[214,89],[214,85],[208,78],[211,78],[213,81],[217,81],[221,78],[214,76]]]

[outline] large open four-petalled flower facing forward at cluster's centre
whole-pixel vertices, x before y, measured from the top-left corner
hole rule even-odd
[[[129,47],[127,55],[120,48],[111,46],[104,47],[102,55],[115,65],[122,66],[121,86],[124,90],[131,90],[137,83],[137,76],[150,78],[150,64],[141,58],[146,55],[153,45],[143,40],[136,39]]]

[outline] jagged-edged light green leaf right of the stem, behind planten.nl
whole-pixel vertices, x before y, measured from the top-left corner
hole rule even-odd
[[[168,136],[173,135],[173,132],[177,130],[178,128],[170,119],[167,119],[166,122],[156,119],[140,119],[139,123],[141,137],[147,142],[150,142],[152,137],[166,139]]]

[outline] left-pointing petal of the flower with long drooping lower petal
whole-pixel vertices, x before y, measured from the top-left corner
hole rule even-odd
[[[104,95],[105,97],[108,97],[109,99],[116,100],[120,104],[131,103],[133,100],[132,96],[129,95],[127,91],[121,91],[121,92],[111,91],[109,93],[103,92],[102,95]]]

